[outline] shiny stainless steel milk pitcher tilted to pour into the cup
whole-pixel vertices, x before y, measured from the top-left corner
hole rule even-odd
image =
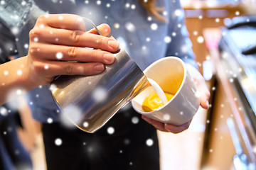
[[[95,132],[137,94],[150,86],[144,73],[124,50],[104,72],[92,76],[67,76],[50,86],[55,103],[81,130]],[[73,117],[70,108],[80,109]],[[66,112],[67,110],[67,112]],[[69,111],[68,111],[69,110]]]

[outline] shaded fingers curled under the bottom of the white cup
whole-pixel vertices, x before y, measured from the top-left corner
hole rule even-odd
[[[190,120],[187,123],[184,123],[183,125],[171,125],[171,124],[164,124],[159,121],[153,120],[151,118],[146,117],[145,115],[142,115],[142,118],[146,120],[147,123],[153,125],[154,128],[162,132],[172,132],[172,133],[183,132],[184,130],[188,129],[191,123],[191,120]]]

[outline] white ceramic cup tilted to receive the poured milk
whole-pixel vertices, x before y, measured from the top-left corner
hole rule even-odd
[[[142,103],[152,91],[152,86],[132,99],[137,113],[162,123],[182,125],[193,118],[200,106],[200,94],[186,64],[178,57],[164,57],[144,70],[146,77],[153,79],[164,92],[174,94],[171,101],[151,112],[144,112]]]

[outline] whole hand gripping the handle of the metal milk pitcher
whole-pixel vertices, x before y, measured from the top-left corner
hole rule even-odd
[[[110,34],[107,24],[98,29],[105,36]],[[112,52],[119,50],[119,42],[97,35],[95,30],[85,31],[85,22],[73,14],[38,18],[29,33],[26,56],[28,79],[34,86],[50,84],[57,75],[99,74],[105,64],[114,62]]]

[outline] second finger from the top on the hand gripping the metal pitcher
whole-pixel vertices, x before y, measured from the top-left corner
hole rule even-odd
[[[107,32],[105,32],[107,33]],[[90,47],[109,52],[119,50],[119,42],[101,35],[85,33],[80,30],[65,30],[56,28],[33,29],[30,33],[31,41],[47,42],[56,45],[75,47]]]

